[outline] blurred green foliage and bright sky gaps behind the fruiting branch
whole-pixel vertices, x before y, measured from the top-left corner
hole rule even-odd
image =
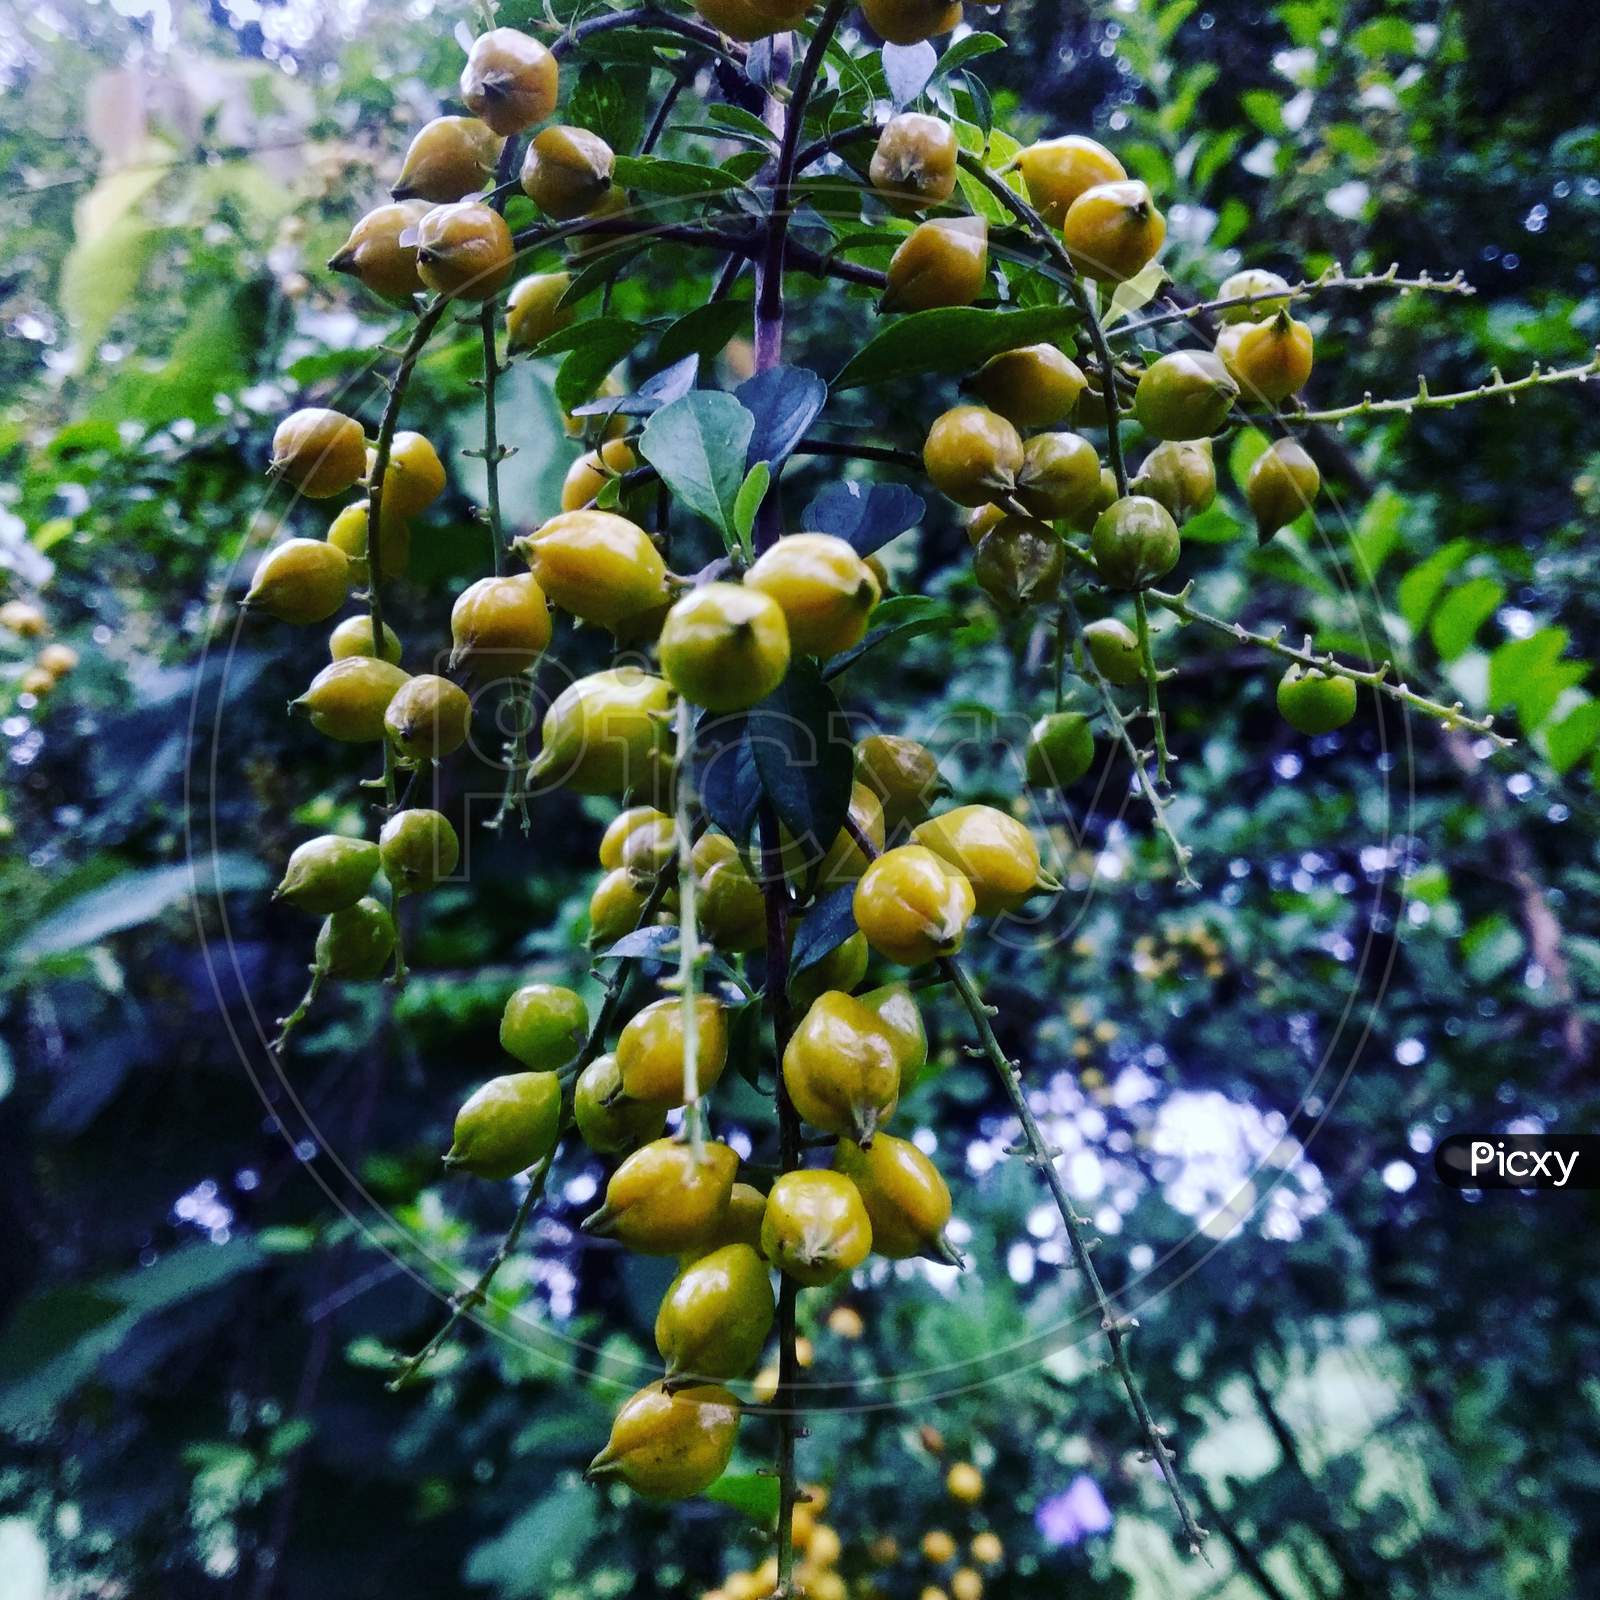
[[[1318,298],[1314,405],[1573,363],[1600,339],[1581,0],[1011,0],[970,19],[1010,43],[981,66],[997,123],[1114,144],[1162,197],[1179,283],[1466,270],[1467,301]],[[0,38],[0,598],[42,606],[82,656],[35,704],[40,640],[0,643],[6,1594],[698,1595],[763,1554],[760,1429],[723,1502],[667,1512],[578,1480],[619,1386],[643,1381],[666,1275],[574,1234],[600,1178],[581,1152],[488,1331],[384,1389],[509,1218],[506,1190],[443,1179],[437,1155],[499,1070],[506,994],[584,970],[605,811],[541,797],[530,837],[496,837],[472,824],[498,774],[453,770],[470,885],[414,920],[410,987],[339,994],[282,1075],[262,1048],[309,946],[264,890],[307,830],[358,826],[360,800],[338,747],[282,714],[320,640],[237,629],[229,602],[277,528],[275,418],[333,394],[376,414],[395,323],[320,264],[384,195],[472,26],[429,0],[75,0]],[[608,72],[590,93],[643,107],[637,69]],[[739,88],[707,74],[690,93]],[[646,256],[616,298],[661,314],[704,288]],[[870,320],[808,288],[789,358],[830,371]],[[442,338],[406,413],[459,466],[397,586],[419,648],[483,562],[480,469],[459,454],[478,443],[475,350],[470,328]],[[504,387],[518,523],[552,509],[576,453],[550,378],[522,363]],[[928,411],[906,386],[874,414],[914,446]],[[1462,1195],[1430,1163],[1451,1130],[1595,1117],[1592,392],[1358,422],[1320,448],[1320,531],[1256,552],[1237,504],[1208,514],[1200,594],[1394,656],[1509,717],[1517,749],[1370,702],[1307,741],[1259,659],[1168,638],[1174,816],[1202,891],[1176,893],[1107,763],[1037,818],[1066,901],[978,946],[1138,1310],[1134,1360],[1211,1565],[1176,1550],[1054,1219],[1006,1157],[1014,1123],[933,994],[942,1070],[902,1120],[954,1179],[971,1267],[878,1266],[802,1298],[838,1406],[803,1472],[830,1486],[842,1570],[886,1595],[947,1576],[917,1549],[938,1528],[994,1530],[990,1586],[1018,1597],[1565,1600],[1600,1562],[1592,1202]],[[826,472],[790,477],[798,506]],[[1037,662],[1040,642],[994,622],[963,549],[942,509],[891,547],[898,582],[965,626],[869,661],[848,702],[925,736],[962,798],[1010,803],[995,733],[1034,709],[1014,651]],[[758,1126],[741,1094],[731,1123]],[[957,1456],[986,1472],[976,1507],[944,1496]]]

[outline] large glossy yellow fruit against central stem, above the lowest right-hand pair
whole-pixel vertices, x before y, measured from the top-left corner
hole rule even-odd
[[[899,1099],[899,1050],[875,1011],[834,989],[789,1037],[784,1086],[813,1128],[870,1144]]]

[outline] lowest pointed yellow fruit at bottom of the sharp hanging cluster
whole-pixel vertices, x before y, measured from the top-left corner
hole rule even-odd
[[[584,1475],[619,1477],[651,1499],[685,1499],[728,1470],[739,1418],[739,1402],[715,1384],[650,1384],[618,1411],[611,1438]]]

